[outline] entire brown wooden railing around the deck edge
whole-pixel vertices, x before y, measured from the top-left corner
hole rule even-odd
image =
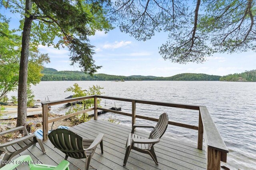
[[[65,104],[68,102],[75,102],[79,100],[87,100],[87,99],[94,99],[94,107],[78,111],[69,115],[63,115],[60,117],[56,117],[53,119],[48,120],[48,106],[54,106],[58,104]],[[109,99],[109,100],[118,100],[124,102],[131,102],[132,103],[132,113],[126,113],[123,111],[116,111],[111,109],[104,109],[101,107],[97,107],[97,99]],[[52,102],[42,102],[43,107],[43,140],[48,139],[48,123],[52,123],[54,121],[58,121],[61,119],[65,119],[74,115],[78,115],[81,113],[86,113],[87,111],[94,110],[94,119],[97,120],[98,118],[98,110],[112,112],[120,115],[126,115],[132,117],[132,125],[136,122],[136,118],[139,119],[146,119],[150,121],[158,121],[157,118],[146,117],[142,115],[136,115],[136,104],[149,104],[149,105],[157,105],[157,106],[167,106],[167,107],[176,107],[182,109],[192,109],[198,110],[198,126],[196,125],[187,125],[184,123],[177,123],[173,121],[169,121],[169,125],[184,127],[188,129],[198,130],[198,143],[197,148],[202,150],[203,149],[203,135],[205,138],[205,146],[206,146],[206,158],[207,158],[207,169],[208,170],[217,170],[220,169],[220,161],[226,162],[227,161],[227,153],[228,149],[220,136],[220,133],[212,120],[212,117],[207,109],[206,106],[194,106],[194,105],[184,105],[184,104],[174,104],[174,103],[166,103],[166,102],[155,102],[155,101],[148,101],[148,100],[136,100],[136,99],[128,99],[128,98],[116,98],[110,96],[100,96],[100,95],[93,95],[93,96],[84,96],[79,98],[71,98],[66,100],[58,100]]]

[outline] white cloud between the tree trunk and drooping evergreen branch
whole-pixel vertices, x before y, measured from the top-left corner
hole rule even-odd
[[[56,56],[56,55],[67,55],[69,53],[68,50],[66,49],[56,49],[53,46],[45,46],[45,45],[38,45],[39,50],[42,53],[48,53],[50,55],[50,57],[56,57],[56,58],[62,58],[62,57],[66,57],[66,56]]]

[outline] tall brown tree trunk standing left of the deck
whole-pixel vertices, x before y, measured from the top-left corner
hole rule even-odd
[[[29,11],[32,8],[31,0],[26,0],[25,21],[22,33],[22,47],[20,55],[20,72],[18,84],[18,118],[16,127],[25,126],[27,118],[27,80],[28,80],[28,57],[29,57],[29,43],[30,31],[32,26],[32,16]]]

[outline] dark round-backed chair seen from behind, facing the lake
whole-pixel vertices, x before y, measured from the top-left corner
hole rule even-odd
[[[85,170],[88,170],[99,144],[101,153],[103,153],[103,136],[104,134],[100,133],[96,139],[86,139],[67,129],[55,129],[48,135],[48,138],[54,147],[66,154],[65,160],[68,156],[76,159],[86,158]]]

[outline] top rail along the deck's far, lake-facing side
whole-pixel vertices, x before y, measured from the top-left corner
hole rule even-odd
[[[177,108],[192,109],[192,110],[199,110],[199,107],[200,107],[200,106],[196,106],[196,105],[176,104],[176,103],[150,101],[150,100],[138,100],[138,99],[129,99],[129,98],[118,98],[118,97],[102,96],[102,95],[96,95],[96,97],[102,98],[102,99],[119,100],[119,101],[124,101],[124,102],[135,101],[136,103],[140,103],[140,104],[177,107]]]

